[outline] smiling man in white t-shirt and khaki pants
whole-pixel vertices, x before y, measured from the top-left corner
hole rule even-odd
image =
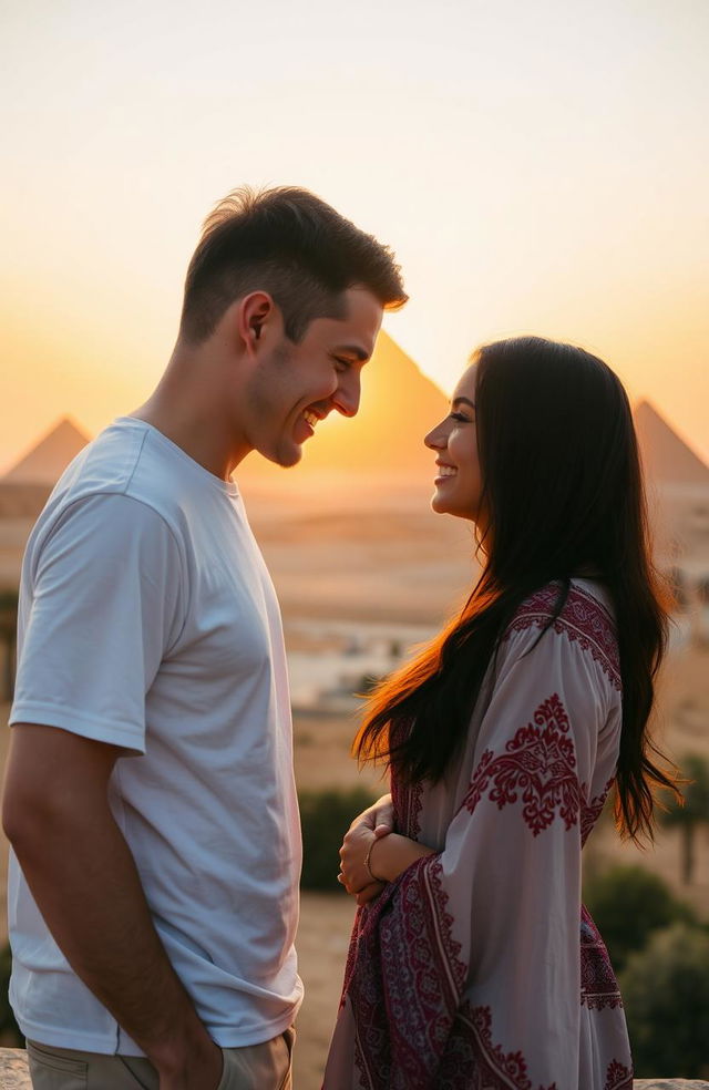
[[[150,400],[32,533],[3,823],[33,1083],[290,1086],[300,839],[277,601],[230,474],[358,410],[392,255],[302,189],[205,225]],[[79,1078],[79,1082],[76,1079]]]

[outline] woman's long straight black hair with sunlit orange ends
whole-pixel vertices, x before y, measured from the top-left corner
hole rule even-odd
[[[439,780],[460,750],[487,666],[515,610],[593,573],[610,594],[623,683],[616,774],[621,832],[653,835],[654,788],[672,774],[648,736],[667,641],[627,394],[603,360],[538,337],[477,350],[475,407],[485,563],[459,616],[374,691],[354,740],[409,783]]]

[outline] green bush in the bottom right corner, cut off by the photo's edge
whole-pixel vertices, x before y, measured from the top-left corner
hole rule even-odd
[[[709,1078],[709,935],[675,924],[634,954],[620,977],[635,1074]]]

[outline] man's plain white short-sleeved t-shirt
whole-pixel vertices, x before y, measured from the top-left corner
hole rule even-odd
[[[18,652],[11,723],[126,750],[112,812],[214,1040],[282,1032],[302,996],[290,701],[278,603],[236,486],[151,425],[116,421],[32,532]],[[69,967],[12,853],[9,923],[22,1031],[140,1055]]]

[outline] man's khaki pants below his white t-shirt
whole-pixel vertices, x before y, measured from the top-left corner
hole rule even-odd
[[[287,1029],[263,1045],[224,1048],[216,1090],[291,1090],[296,1037]],[[138,1056],[103,1056],[27,1042],[33,1090],[158,1090],[157,1072]]]

